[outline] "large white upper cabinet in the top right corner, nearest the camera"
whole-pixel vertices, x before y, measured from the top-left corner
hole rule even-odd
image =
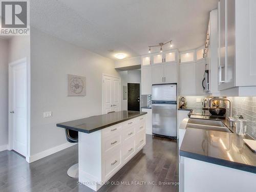
[[[219,3],[219,90],[232,96],[251,96],[256,86],[256,1]],[[248,87],[240,89],[240,87]],[[234,94],[234,89],[239,90]],[[242,93],[242,90],[246,92]]]

